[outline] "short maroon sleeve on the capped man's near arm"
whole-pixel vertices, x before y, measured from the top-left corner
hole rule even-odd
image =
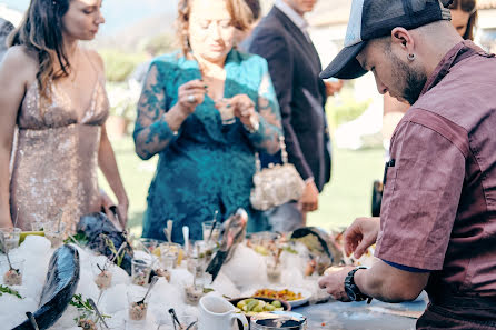
[[[444,134],[407,121],[391,148],[376,257],[440,270],[465,178],[465,156]]]

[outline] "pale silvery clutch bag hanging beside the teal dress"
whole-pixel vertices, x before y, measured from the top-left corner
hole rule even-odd
[[[286,143],[280,138],[282,164],[270,164],[260,169],[260,159],[255,153],[257,172],[254,174],[254,188],[250,193],[251,207],[267,211],[289,201],[297,201],[305,190],[305,181],[292,163],[288,162]]]

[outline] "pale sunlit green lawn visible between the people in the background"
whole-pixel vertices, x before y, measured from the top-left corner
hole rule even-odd
[[[112,141],[112,146],[130,200],[129,226],[133,233],[140,234],[147,191],[157,160],[140,160],[129,137]],[[375,179],[381,179],[384,169],[381,149],[333,151],[331,182],[320,197],[319,210],[308,218],[310,226],[324,229],[345,227],[357,217],[369,216],[371,184]],[[100,184],[110,191],[101,173]]]

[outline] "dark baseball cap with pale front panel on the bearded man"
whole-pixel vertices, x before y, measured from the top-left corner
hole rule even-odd
[[[354,0],[345,37],[345,48],[320,73],[320,78],[355,79],[367,71],[357,54],[368,40],[389,36],[403,27],[413,30],[439,20],[450,20],[449,0]]]

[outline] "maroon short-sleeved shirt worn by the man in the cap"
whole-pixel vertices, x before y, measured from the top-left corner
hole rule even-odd
[[[496,299],[496,58],[454,47],[396,128],[391,159],[376,257],[431,270],[431,298]]]

